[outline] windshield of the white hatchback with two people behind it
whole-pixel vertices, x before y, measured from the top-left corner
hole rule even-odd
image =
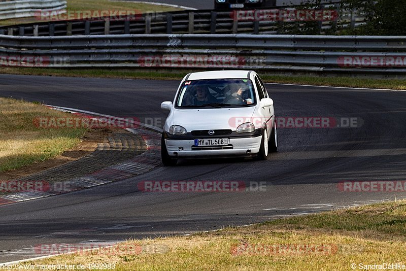
[[[249,79],[208,79],[185,81],[177,108],[249,107],[256,103]]]

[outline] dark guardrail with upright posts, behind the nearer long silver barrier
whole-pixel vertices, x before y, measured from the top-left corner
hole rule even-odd
[[[339,4],[325,4],[324,9],[337,9]],[[122,35],[160,33],[250,33],[283,34],[283,26],[300,27],[300,22],[273,20],[234,20],[232,11],[177,11],[160,14],[143,14],[138,20],[75,20],[53,21],[0,27],[0,34],[15,36],[72,36],[72,35]],[[321,34],[331,29],[358,27],[365,24],[364,17],[356,10],[341,10],[333,21],[319,21]]]

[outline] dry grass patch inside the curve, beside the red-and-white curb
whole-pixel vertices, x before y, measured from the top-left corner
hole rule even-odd
[[[85,128],[44,129],[35,118],[67,117],[39,104],[0,98],[0,173],[61,154],[81,142]]]

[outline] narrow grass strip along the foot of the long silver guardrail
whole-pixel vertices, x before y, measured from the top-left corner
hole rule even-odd
[[[3,74],[67,76],[67,77],[97,77],[121,79],[154,79],[180,81],[191,70],[128,70],[128,69],[42,69],[29,67],[4,67]],[[406,90],[406,80],[400,79],[371,79],[360,77],[316,77],[316,76],[281,76],[261,73],[261,78],[267,83],[304,84],[334,87],[383,88]]]

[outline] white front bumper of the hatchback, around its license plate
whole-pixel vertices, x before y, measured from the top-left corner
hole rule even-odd
[[[196,137],[197,139],[198,137]],[[227,136],[219,138],[229,138]],[[168,155],[178,158],[246,157],[259,152],[262,136],[229,138],[228,146],[195,147],[194,139],[165,139]]]

